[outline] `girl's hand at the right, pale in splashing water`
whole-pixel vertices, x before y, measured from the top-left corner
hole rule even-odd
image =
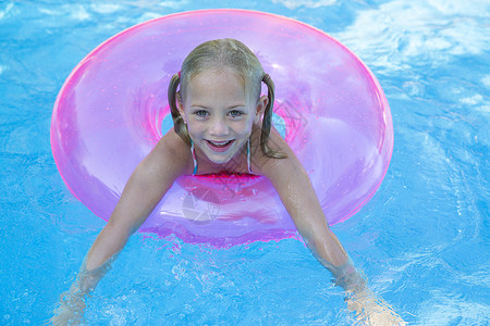
[[[407,325],[390,304],[368,289],[359,293],[351,292],[346,302],[347,309],[363,325]]]

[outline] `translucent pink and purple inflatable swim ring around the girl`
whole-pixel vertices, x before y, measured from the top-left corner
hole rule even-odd
[[[380,85],[323,32],[244,10],[156,18],[82,60],[58,95],[51,122],[53,156],[71,192],[109,218],[131,173],[162,136],[171,76],[196,46],[218,38],[243,41],[271,75],[273,110],[329,224],[359,211],[378,189],[393,149]],[[216,247],[297,237],[268,179],[247,175],[182,176],[139,230]]]

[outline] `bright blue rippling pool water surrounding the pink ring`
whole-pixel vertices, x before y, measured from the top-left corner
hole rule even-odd
[[[207,8],[237,7],[0,2],[1,325],[47,319],[105,225],[72,197],[51,155],[51,110],[63,80],[120,30]],[[385,90],[395,134],[390,168],[373,199],[332,227],[371,288],[413,325],[488,324],[489,1],[262,0],[240,8],[329,33]],[[89,299],[86,318],[350,325],[343,298],[297,240],[216,250],[137,234]]]

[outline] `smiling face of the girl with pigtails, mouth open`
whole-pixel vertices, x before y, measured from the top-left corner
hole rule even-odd
[[[179,111],[195,147],[223,164],[244,148],[267,102],[267,97],[256,102],[231,68],[209,70],[191,79]]]

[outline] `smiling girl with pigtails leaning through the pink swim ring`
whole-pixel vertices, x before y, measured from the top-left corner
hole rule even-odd
[[[260,97],[261,83],[268,96]],[[177,91],[177,88],[180,90]],[[174,129],[164,135],[133,172],[106,227],[62,296],[54,324],[81,322],[84,297],[93,291],[173,181],[181,175],[248,173],[270,179],[319,262],[350,293],[347,306],[368,323],[402,324],[378,303],[354,268],[327,220],[308,175],[274,128],[274,85],[242,42],[220,39],[194,49],[169,86]]]

